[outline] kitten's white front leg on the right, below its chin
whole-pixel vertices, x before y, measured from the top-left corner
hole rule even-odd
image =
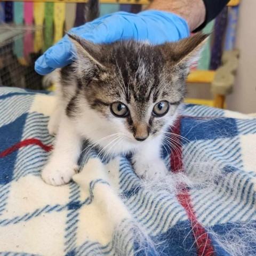
[[[134,171],[141,178],[163,178],[168,170],[160,154],[161,139],[157,138],[148,143],[143,143],[143,146],[132,157]]]

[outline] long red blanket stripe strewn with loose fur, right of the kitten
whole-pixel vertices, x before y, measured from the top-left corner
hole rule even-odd
[[[181,125],[181,118],[177,120],[175,127],[172,129],[173,133],[180,135],[180,125]],[[177,140],[177,139],[178,139],[177,136],[175,136],[174,140]],[[177,150],[173,150],[173,154],[171,156],[170,161],[171,161],[172,172],[177,173],[177,172],[183,171],[182,147],[178,146],[177,145],[178,143],[175,143],[175,144],[176,144],[175,148]],[[196,218],[195,210],[189,194],[189,189],[188,188],[183,189],[181,193],[177,195],[177,198],[188,214],[188,219],[191,223],[191,228],[195,237],[195,246],[197,250],[197,255],[213,256],[214,249],[211,244],[211,239],[209,237],[209,234],[206,232],[204,227],[201,225],[201,223],[198,222]]]

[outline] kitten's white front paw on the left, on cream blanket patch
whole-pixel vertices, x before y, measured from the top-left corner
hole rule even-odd
[[[50,161],[44,166],[42,178],[47,184],[60,186],[67,184],[77,172],[78,166],[76,164]]]

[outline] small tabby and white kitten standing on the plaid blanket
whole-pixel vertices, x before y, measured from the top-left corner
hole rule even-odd
[[[133,40],[94,44],[69,37],[77,60],[58,71],[59,106],[49,122],[57,137],[44,181],[56,186],[70,181],[84,139],[102,155],[133,153],[139,177],[164,177],[163,134],[179,115],[189,67],[207,35],[162,45]]]

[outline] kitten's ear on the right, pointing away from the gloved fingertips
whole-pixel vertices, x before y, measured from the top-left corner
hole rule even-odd
[[[210,34],[197,33],[176,43],[165,43],[161,49],[165,59],[174,62],[175,65],[190,67],[199,59],[209,36]]]

